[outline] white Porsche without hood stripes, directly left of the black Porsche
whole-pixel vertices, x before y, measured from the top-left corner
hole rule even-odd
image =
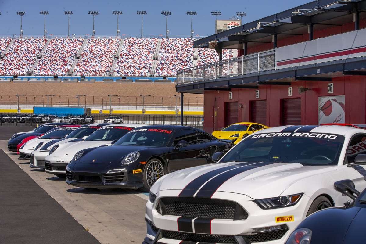
[[[105,125],[91,133],[83,141],[61,143],[51,148],[49,155],[45,158],[47,173],[66,174],[66,165],[71,161],[74,155],[90,147],[110,146],[127,132],[134,128],[144,126],[143,124],[113,124]],[[113,143],[114,143],[113,142]],[[107,156],[107,155],[104,155]]]

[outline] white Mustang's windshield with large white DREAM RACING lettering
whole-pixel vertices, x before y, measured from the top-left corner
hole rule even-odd
[[[344,136],[321,133],[253,134],[224,155],[220,163],[287,162],[337,165]]]

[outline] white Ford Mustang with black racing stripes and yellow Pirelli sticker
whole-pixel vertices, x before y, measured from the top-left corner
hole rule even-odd
[[[146,203],[152,243],[284,243],[307,215],[349,198],[333,189],[351,179],[366,187],[366,130],[338,125],[258,131],[218,163],[159,179]]]

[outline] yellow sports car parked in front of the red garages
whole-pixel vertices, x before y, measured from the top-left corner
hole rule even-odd
[[[212,132],[212,135],[219,139],[232,140],[232,142],[236,144],[250,134],[266,128],[269,127],[257,123],[239,122],[229,125],[228,127],[221,129],[221,131],[214,131]]]

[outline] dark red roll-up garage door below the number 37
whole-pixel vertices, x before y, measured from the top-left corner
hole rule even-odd
[[[301,124],[301,98],[282,100],[282,125]]]

